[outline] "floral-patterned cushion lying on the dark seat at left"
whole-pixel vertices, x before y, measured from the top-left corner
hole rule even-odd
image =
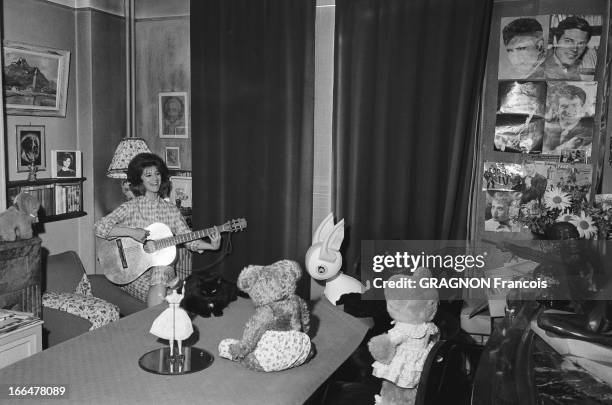
[[[43,306],[80,316],[91,322],[94,330],[119,319],[119,308],[103,299],[76,293],[46,292]]]

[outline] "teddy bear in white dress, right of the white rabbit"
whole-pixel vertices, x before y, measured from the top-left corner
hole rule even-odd
[[[395,274],[389,281],[406,285],[402,278],[416,281],[415,288],[392,288],[387,284],[387,312],[394,324],[387,333],[373,337],[368,349],[374,360],[372,374],[383,379],[376,405],[414,404],[421,371],[432,346],[439,339],[438,327],[431,322],[438,309],[438,291],[420,288],[419,280],[430,278],[426,268],[410,276]]]

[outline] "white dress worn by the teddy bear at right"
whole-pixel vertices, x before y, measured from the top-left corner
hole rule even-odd
[[[375,361],[372,374],[391,381],[401,388],[414,388],[419,384],[421,371],[427,355],[438,340],[438,327],[431,323],[418,325],[395,322],[389,330],[389,339],[395,346],[395,356],[391,363]]]

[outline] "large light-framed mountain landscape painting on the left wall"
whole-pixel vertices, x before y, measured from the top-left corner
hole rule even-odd
[[[4,41],[3,56],[7,114],[66,116],[69,51]]]

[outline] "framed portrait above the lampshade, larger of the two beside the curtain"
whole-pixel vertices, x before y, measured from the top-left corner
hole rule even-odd
[[[159,137],[187,138],[188,111],[187,92],[159,93]]]

